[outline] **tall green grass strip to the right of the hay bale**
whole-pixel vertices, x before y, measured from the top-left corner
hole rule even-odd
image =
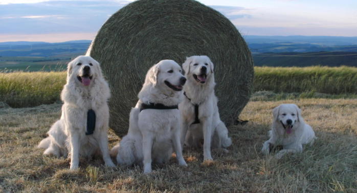
[[[254,91],[357,94],[355,67],[255,67]]]

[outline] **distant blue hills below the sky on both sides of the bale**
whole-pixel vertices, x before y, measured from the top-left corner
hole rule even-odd
[[[252,51],[255,66],[355,66],[357,37],[243,36]],[[2,69],[63,69],[84,54],[91,40],[58,43],[0,42]],[[46,68],[44,68],[46,66]]]

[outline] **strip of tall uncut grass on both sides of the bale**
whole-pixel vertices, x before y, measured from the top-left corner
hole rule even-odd
[[[251,100],[357,98],[354,67],[255,67]],[[0,72],[0,101],[12,107],[59,100],[65,72]]]

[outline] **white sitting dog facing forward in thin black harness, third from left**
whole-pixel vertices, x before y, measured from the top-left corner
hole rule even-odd
[[[187,82],[185,99],[179,105],[183,125],[181,143],[199,146],[204,139],[204,161],[212,160],[211,146],[226,150],[232,144],[228,129],[219,118],[213,63],[207,56],[192,56],[186,59],[183,68]]]

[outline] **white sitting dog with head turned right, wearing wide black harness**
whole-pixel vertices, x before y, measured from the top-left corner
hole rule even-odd
[[[151,172],[151,161],[165,163],[175,150],[181,166],[187,166],[180,142],[178,103],[186,78],[181,67],[172,60],[163,60],[146,74],[135,108],[131,109],[128,134],[110,154],[123,166],[143,161],[144,173]]]

